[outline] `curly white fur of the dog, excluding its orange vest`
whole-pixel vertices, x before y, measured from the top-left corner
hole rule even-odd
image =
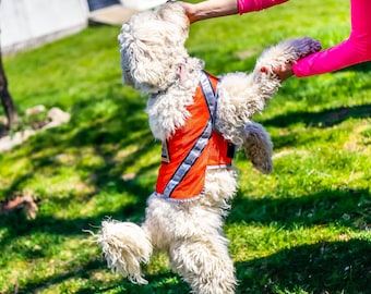
[[[204,68],[204,62],[189,57],[184,48],[188,32],[181,5],[168,3],[134,15],[119,35],[123,81],[149,95],[149,126],[160,140],[187,123],[187,107],[193,103]],[[319,49],[320,44],[310,38],[280,42],[263,52],[252,73],[228,73],[218,84],[218,132],[242,147],[264,173],[273,167],[272,142],[263,126],[251,120],[280,87],[273,69]],[[234,293],[237,281],[223,224],[236,191],[234,168],[207,169],[203,197],[188,203],[149,197],[141,226],[104,221],[95,236],[108,267],[133,282],[146,283],[140,264],[148,262],[156,248],[168,253],[172,270],[194,293]]]

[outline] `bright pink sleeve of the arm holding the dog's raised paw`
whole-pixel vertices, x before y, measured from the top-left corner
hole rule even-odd
[[[347,40],[292,65],[298,77],[337,71],[371,61],[371,1],[350,0],[351,32]]]

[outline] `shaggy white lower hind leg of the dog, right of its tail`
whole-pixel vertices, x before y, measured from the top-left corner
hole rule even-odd
[[[220,234],[175,242],[169,252],[171,267],[193,293],[232,294],[237,282],[227,244]]]

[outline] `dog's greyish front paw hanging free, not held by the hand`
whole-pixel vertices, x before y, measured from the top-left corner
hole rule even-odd
[[[246,139],[243,149],[253,167],[262,173],[271,173],[273,170],[273,145],[270,135],[258,123],[244,126]]]

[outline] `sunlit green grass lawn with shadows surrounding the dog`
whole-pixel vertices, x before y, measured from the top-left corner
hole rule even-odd
[[[349,34],[349,3],[291,0],[192,25],[187,47],[214,74],[251,71],[290,37],[324,48]],[[119,27],[94,27],[4,59],[17,110],[60,107],[71,122],[0,155],[0,200],[32,192],[37,218],[0,218],[0,293],[189,293],[156,254],[148,285],[130,284],[84,242],[106,217],[140,222],[159,162],[145,99],[122,86]],[[243,57],[243,58],[241,58]],[[255,121],[274,142],[274,172],[237,155],[240,188],[225,231],[237,293],[370,293],[371,64],[290,78]],[[132,180],[124,180],[133,176]]]

